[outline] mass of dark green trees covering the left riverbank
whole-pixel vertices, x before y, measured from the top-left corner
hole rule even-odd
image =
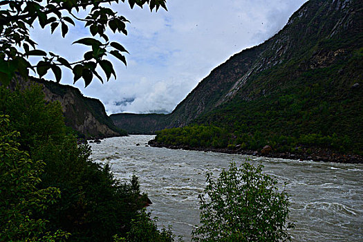
[[[0,86],[0,101],[0,241],[173,240],[147,222],[138,179],[120,183],[93,162],[40,86]]]

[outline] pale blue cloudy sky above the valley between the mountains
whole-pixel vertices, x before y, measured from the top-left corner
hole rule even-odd
[[[213,68],[245,48],[261,44],[287,23],[306,0],[169,0],[168,11],[148,8],[130,10],[127,4],[113,10],[127,17],[129,35],[109,32],[127,50],[127,67],[110,57],[117,79],[101,84],[95,79],[84,89],[83,80],[73,85],[71,71],[64,69],[62,84],[72,84],[104,104],[107,113],[171,112]],[[66,39],[59,30],[50,35],[34,28],[39,48],[80,60],[82,45],[71,43],[89,36],[83,24],[70,26]],[[102,72],[102,71],[100,71]],[[53,79],[48,73],[46,79]]]

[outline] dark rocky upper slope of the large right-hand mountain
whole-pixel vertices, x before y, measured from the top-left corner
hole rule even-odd
[[[168,127],[189,124],[231,100],[290,89],[306,71],[349,59],[362,48],[362,5],[358,0],[308,1],[274,37],[215,68],[178,104]]]

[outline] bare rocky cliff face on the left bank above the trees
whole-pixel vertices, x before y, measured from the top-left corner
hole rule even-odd
[[[84,97],[73,86],[38,80],[32,77],[30,77],[29,82],[24,82],[18,77],[16,82],[21,86],[27,86],[31,82],[41,84],[46,100],[49,102],[59,101],[62,105],[66,125],[73,128],[84,138],[107,138],[127,134],[115,127],[111,118],[106,115],[100,100]],[[12,85],[14,87],[15,82]]]

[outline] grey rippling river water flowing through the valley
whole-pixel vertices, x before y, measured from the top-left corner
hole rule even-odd
[[[120,180],[138,176],[142,191],[152,201],[151,216],[158,227],[171,225],[176,235],[190,241],[198,224],[198,194],[205,174],[215,176],[234,160],[261,162],[263,171],[279,180],[290,194],[292,241],[363,241],[363,165],[260,158],[203,151],[148,147],[153,136],[108,138],[91,144],[96,162],[111,165]],[[139,144],[139,145],[137,145]],[[282,185],[281,185],[282,187]]]

